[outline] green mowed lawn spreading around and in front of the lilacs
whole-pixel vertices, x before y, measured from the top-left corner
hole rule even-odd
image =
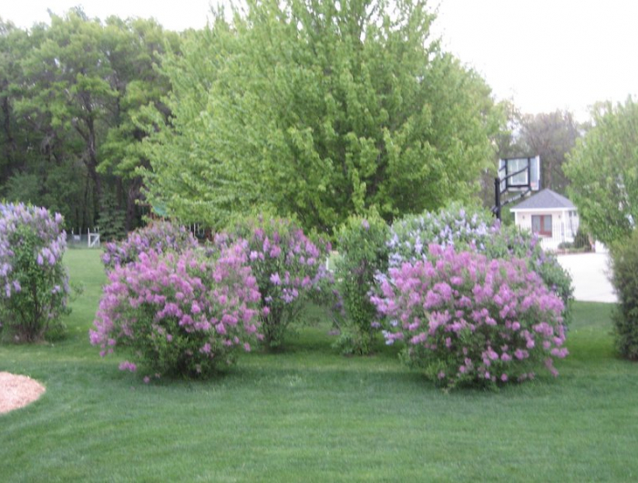
[[[69,251],[84,285],[60,344],[0,345],[0,371],[46,394],[0,416],[0,481],[634,481],[638,365],[616,357],[610,311],[577,303],[561,375],[445,394],[396,348],[345,358],[328,324],[219,379],[118,371],[88,329],[105,276]]]

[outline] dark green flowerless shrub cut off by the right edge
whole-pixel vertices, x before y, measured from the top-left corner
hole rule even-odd
[[[612,285],[618,304],[612,315],[618,352],[638,360],[638,231],[631,238],[612,245]]]

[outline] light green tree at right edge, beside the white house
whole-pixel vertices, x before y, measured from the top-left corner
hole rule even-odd
[[[592,235],[612,243],[638,221],[638,104],[599,104],[564,166],[569,194]]]

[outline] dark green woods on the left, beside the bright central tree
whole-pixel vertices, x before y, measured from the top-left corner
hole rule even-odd
[[[148,105],[168,115],[156,67],[179,47],[152,20],[101,22],[79,8],[28,30],[0,20],[2,196],[59,211],[67,230],[135,228],[148,164],[138,123]]]

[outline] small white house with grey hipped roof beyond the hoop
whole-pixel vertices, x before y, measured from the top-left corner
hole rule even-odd
[[[545,250],[556,250],[563,241],[573,242],[578,231],[574,204],[552,190],[541,190],[509,211],[521,230],[537,233]]]

